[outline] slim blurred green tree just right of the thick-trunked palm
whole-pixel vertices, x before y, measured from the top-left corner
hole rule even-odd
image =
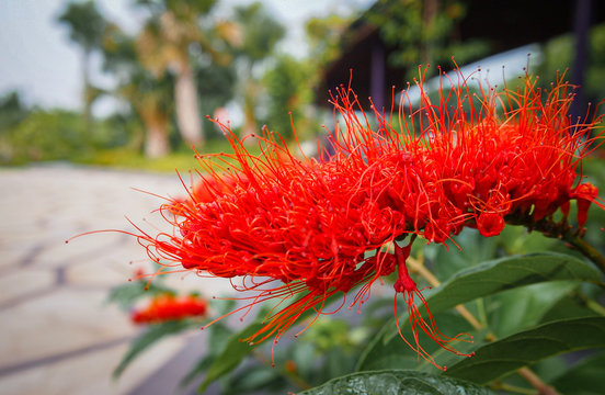
[[[243,108],[242,135],[256,132],[256,104],[262,91],[256,67],[271,55],[285,34],[284,27],[266,13],[262,3],[236,8],[235,21],[243,37],[236,48],[240,97]]]

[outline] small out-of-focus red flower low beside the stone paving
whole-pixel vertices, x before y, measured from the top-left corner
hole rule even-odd
[[[190,295],[179,298],[171,294],[162,294],[155,297],[144,309],[133,312],[130,317],[135,324],[160,324],[190,317],[202,317],[207,309],[206,301],[197,296]]]

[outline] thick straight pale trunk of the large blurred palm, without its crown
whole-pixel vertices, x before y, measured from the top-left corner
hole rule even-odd
[[[174,87],[176,123],[183,139],[202,148],[204,145],[204,133],[197,111],[197,91],[195,76],[189,65],[183,65],[176,75]]]

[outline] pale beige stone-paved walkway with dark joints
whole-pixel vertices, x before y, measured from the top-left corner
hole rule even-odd
[[[118,381],[113,369],[139,330],[107,291],[145,266],[145,251],[118,233],[80,233],[135,223],[161,226],[150,214],[160,195],[182,195],[175,174],[77,168],[0,168],[0,394],[137,393],[186,338],[163,341]],[[153,221],[156,219],[156,221]],[[151,226],[151,225],[149,225]],[[134,261],[134,263],[128,263]],[[221,294],[228,282],[173,275],[170,284]]]

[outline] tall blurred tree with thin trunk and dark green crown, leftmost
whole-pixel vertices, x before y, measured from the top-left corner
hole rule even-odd
[[[92,0],[69,3],[58,22],[69,29],[69,38],[82,48],[83,114],[90,125],[92,102],[100,93],[90,82],[90,57],[101,47],[107,22]]]

